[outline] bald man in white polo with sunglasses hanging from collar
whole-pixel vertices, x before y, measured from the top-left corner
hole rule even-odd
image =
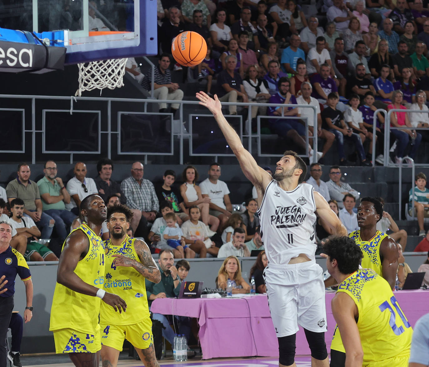
[[[80,203],[85,197],[91,194],[98,195],[97,185],[93,179],[86,177],[87,172],[86,164],[78,162],[73,170],[75,176],[67,182],[67,191],[73,200],[66,204],[66,209],[75,215],[79,215]]]

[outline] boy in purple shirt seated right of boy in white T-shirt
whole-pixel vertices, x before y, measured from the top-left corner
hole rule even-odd
[[[377,107],[374,106],[374,93],[366,92],[365,97],[363,98],[363,105],[359,107],[360,112],[362,112],[363,117],[363,126],[365,126],[369,131],[372,131],[374,125],[374,112],[377,110]],[[384,164],[384,117],[378,112],[376,120],[375,134],[377,135],[377,143],[375,145],[375,154],[377,157],[375,161],[380,164]]]

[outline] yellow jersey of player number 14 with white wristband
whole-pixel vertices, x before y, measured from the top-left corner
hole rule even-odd
[[[89,249],[85,258],[78,261],[74,272],[85,283],[94,285],[97,288],[103,288],[103,240],[86,223],[81,224],[71,233],[78,230],[83,231],[88,236]],[[49,330],[70,328],[86,334],[95,334],[98,325],[100,302],[99,297],[78,293],[57,283],[52,300]]]

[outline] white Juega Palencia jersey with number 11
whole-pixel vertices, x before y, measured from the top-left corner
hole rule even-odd
[[[261,238],[270,263],[284,265],[299,254],[311,260],[315,258],[313,191],[313,186],[306,183],[292,191],[282,190],[276,180],[267,186],[258,214]]]

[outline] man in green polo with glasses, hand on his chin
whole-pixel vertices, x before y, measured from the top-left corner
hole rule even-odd
[[[70,202],[70,195],[63,184],[63,180],[57,177],[57,164],[54,161],[47,161],[43,172],[45,176],[37,181],[42,199],[42,209],[43,212],[54,218],[55,231],[63,243],[76,215],[66,210],[65,204]]]

